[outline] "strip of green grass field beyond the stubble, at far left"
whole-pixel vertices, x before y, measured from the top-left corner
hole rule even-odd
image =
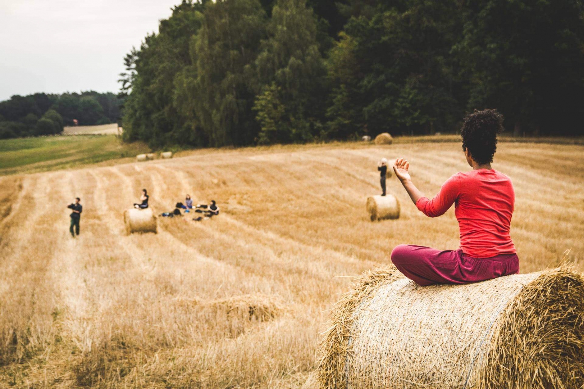
[[[123,143],[114,135],[2,139],[0,175],[65,169],[148,151],[145,143]]]

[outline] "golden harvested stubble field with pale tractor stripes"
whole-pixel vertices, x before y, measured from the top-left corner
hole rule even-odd
[[[215,150],[145,163],[0,177],[0,387],[297,388],[328,310],[394,246],[458,245],[453,209],[370,222],[377,161],[405,156],[433,195],[470,169],[460,143]],[[501,143],[521,271],[584,271],[584,146]],[[124,234],[141,188],[156,213],[189,193],[221,214]],[[81,197],[81,236],[65,208]]]

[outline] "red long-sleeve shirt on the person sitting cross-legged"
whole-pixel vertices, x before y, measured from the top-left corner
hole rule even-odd
[[[432,200],[422,197],[416,206],[430,218],[443,215],[454,203],[460,228],[460,248],[474,258],[515,254],[509,234],[515,191],[509,177],[494,169],[457,173]]]

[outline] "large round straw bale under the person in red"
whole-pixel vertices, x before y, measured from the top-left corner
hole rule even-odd
[[[426,287],[376,269],[331,316],[321,387],[584,387],[584,278],[566,269]]]

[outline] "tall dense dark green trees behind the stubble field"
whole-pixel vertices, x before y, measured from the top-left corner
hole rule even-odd
[[[124,59],[124,137],[251,145],[456,132],[582,134],[579,0],[186,1]]]

